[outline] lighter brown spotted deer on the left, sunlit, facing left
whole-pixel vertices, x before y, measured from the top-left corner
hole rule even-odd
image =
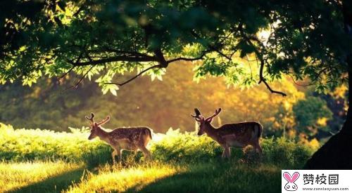
[[[99,137],[100,140],[105,141],[113,148],[111,156],[113,157],[113,164],[116,164],[115,156],[120,159],[122,150],[134,151],[141,150],[146,159],[151,159],[151,153],[146,149],[151,138],[151,128],[148,127],[120,127],[115,128],[113,131],[105,131],[101,125],[106,124],[110,121],[110,117],[96,123],[94,121],[94,113],[91,113],[91,117],[85,116],[90,122],[91,131],[88,140],[93,140]]]

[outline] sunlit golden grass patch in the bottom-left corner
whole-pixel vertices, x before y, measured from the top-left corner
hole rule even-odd
[[[63,175],[63,173],[77,171],[79,168],[82,168],[82,164],[69,164],[63,161],[2,162],[0,164],[0,192],[17,191],[23,187],[35,186],[39,182]],[[48,186],[47,182],[45,186]]]

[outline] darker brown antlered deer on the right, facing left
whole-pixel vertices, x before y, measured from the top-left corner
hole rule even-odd
[[[223,124],[219,128],[212,126],[211,122],[221,112],[221,108],[216,109],[215,113],[208,118],[201,115],[199,109],[195,108],[195,115],[191,114],[198,123],[199,131],[198,136],[207,134],[208,137],[212,138],[224,148],[222,152],[222,158],[230,158],[231,149],[230,147],[239,147],[244,149],[247,145],[252,145],[256,152],[260,155],[263,154],[263,150],[260,147],[260,136],[263,133],[263,126],[256,121],[245,121],[232,124]]]

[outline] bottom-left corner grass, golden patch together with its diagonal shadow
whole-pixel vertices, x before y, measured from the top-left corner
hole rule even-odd
[[[82,164],[35,161],[0,164],[0,192],[57,192],[80,180]]]

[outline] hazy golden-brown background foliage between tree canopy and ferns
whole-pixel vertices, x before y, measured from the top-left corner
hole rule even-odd
[[[277,116],[279,109],[291,112],[295,102],[304,97],[288,79],[272,83],[288,94],[282,98],[268,93],[263,85],[251,89],[227,87],[222,78],[208,77],[196,84],[192,81],[192,67],[186,62],[169,69],[158,84],[142,76],[127,89],[118,91],[118,98],[101,95],[99,87],[89,81],[84,81],[77,89],[68,88],[70,81],[67,79],[60,86],[56,79],[41,79],[32,87],[6,84],[0,86],[0,100],[6,101],[0,104],[1,109],[6,109],[0,112],[0,120],[16,128],[68,131],[68,126],[88,126],[84,116],[94,112],[97,120],[111,116],[107,128],[143,125],[165,133],[169,127],[193,131],[194,119],[189,114],[194,107],[199,107],[206,115],[222,107],[220,118],[224,124],[256,120],[264,125],[265,135],[279,136],[284,119]],[[293,115],[286,116],[285,120],[291,123],[287,126],[294,126]],[[216,121],[215,126],[218,126]]]

